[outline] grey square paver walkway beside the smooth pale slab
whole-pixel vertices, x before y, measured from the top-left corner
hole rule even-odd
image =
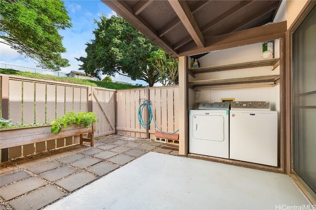
[[[70,195],[149,151],[177,155],[151,140],[120,135],[21,159],[0,169],[0,210],[38,210]]]

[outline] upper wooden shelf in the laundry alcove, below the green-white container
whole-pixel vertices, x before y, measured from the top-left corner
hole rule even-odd
[[[198,73],[227,71],[227,70],[253,68],[253,67],[269,66],[269,65],[273,66],[272,70],[276,69],[276,67],[279,65],[279,59],[277,58],[277,59],[268,59],[268,60],[256,60],[256,61],[234,63],[234,64],[228,64],[228,65],[216,65],[216,66],[192,68],[190,70],[193,72],[193,74],[198,74]]]

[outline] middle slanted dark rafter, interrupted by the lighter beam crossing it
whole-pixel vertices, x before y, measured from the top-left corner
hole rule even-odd
[[[230,16],[232,16],[235,12],[237,12],[239,9],[241,9],[242,7],[244,7],[245,5],[247,5],[248,3],[254,2],[249,1],[249,0],[245,0],[245,1],[241,1],[239,4],[237,4],[236,6],[234,6],[233,8],[231,8],[230,10],[224,12],[223,14],[221,14],[220,16],[218,16],[217,18],[215,18],[213,21],[209,22],[208,24],[206,24],[205,26],[203,26],[201,28],[201,32],[204,33],[205,31],[209,30],[211,27],[216,26],[217,24],[223,22],[226,18],[229,18]],[[190,42],[192,40],[191,36],[187,36],[184,39],[182,39],[181,41],[175,43],[173,45],[173,49],[177,50],[178,48],[182,47],[183,45],[187,44],[188,42]]]

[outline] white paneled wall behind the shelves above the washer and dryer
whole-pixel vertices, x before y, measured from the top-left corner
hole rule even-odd
[[[275,40],[275,58],[279,58],[279,40]],[[200,67],[241,63],[255,60],[262,60],[262,43],[240,46],[220,51],[210,52],[198,59]],[[279,67],[272,71],[272,66],[256,68],[236,69],[229,71],[218,71],[210,73],[196,74],[196,78],[189,77],[189,81],[226,79],[237,77],[251,77],[262,75],[279,74]],[[264,85],[264,84],[262,84]],[[220,102],[221,98],[235,98],[236,101],[270,101],[272,110],[279,111],[279,85],[275,87],[263,88],[241,88],[248,86],[258,86],[258,84],[238,84],[231,85],[234,89],[225,90],[198,90],[196,92],[196,102]],[[214,88],[215,86],[212,86]],[[226,87],[226,86],[216,86]],[[205,87],[207,88],[207,87]],[[189,96],[189,100],[192,100]]]

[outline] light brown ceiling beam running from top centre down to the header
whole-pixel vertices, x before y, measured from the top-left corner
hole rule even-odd
[[[187,1],[184,0],[168,0],[171,7],[178,15],[184,27],[189,32],[190,36],[197,44],[197,47],[204,47],[204,39],[202,32],[199,30],[197,21],[189,8]]]

